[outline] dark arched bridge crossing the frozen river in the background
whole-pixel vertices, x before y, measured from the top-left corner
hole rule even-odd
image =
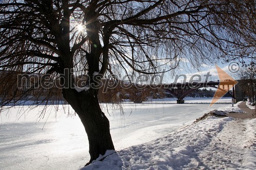
[[[234,85],[236,81],[232,80],[223,80],[223,81],[205,81],[205,82],[185,82],[185,83],[170,83],[170,84],[158,84],[158,85],[140,85],[140,84],[130,84],[129,88],[130,94],[134,97],[135,103],[141,103],[143,100],[143,96],[150,91],[154,91],[156,89],[162,89],[170,94],[172,94],[175,98],[177,98],[177,103],[184,103],[184,98],[189,93],[202,88],[202,87],[211,87],[216,88],[217,90],[221,90],[225,93],[228,93],[233,99],[236,99]],[[128,87],[127,85],[125,87]],[[127,88],[127,89],[129,89]],[[229,89],[232,88],[232,93]],[[221,98],[222,96],[220,96]]]

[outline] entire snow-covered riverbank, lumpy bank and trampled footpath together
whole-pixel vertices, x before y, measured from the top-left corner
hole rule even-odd
[[[256,119],[208,117],[85,169],[256,169]]]

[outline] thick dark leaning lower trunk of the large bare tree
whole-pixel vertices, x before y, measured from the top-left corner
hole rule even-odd
[[[106,150],[115,150],[110,134],[108,118],[101,111],[95,89],[77,92],[63,89],[63,96],[81,119],[89,140],[90,164],[104,155]]]

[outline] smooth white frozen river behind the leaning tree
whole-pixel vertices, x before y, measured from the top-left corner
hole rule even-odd
[[[110,120],[115,148],[121,150],[182,128],[210,110],[230,106],[198,104],[210,101],[124,103],[122,109],[101,105]],[[38,114],[43,106],[15,107],[0,114],[0,169],[79,169],[89,161],[87,135],[78,116],[68,106],[59,106],[57,112],[53,107],[44,118]]]

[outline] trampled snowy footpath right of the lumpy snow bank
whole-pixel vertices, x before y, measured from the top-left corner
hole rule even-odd
[[[217,136],[212,138],[207,147],[199,154],[202,162],[206,163],[202,166],[203,168],[242,168],[248,163],[245,157],[246,148],[250,147],[248,142],[253,141],[249,139],[250,137],[247,138],[247,121],[245,119],[234,119],[226,124]],[[250,129],[250,127],[248,128]],[[253,145],[253,143],[251,144]],[[253,162],[251,163],[253,164]]]

